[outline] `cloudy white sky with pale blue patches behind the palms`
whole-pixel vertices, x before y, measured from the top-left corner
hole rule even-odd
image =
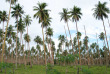
[[[48,4],[47,9],[50,9],[50,16],[52,17],[51,27],[53,28],[54,35],[52,39],[55,41],[55,46],[58,46],[58,36],[65,35],[64,25],[66,23],[64,21],[60,21],[61,17],[59,15],[62,12],[63,8],[68,8],[68,10],[72,9],[74,6],[80,7],[82,16],[81,20],[78,22],[78,30],[82,33],[81,39],[85,36],[84,25],[86,27],[87,35],[89,37],[90,44],[92,42],[96,42],[96,33],[99,35],[101,32],[104,32],[103,23],[100,20],[96,20],[93,17],[93,8],[98,1],[107,2],[107,6],[110,8],[109,0],[18,0],[23,10],[25,11],[25,15],[30,15],[32,19],[32,23],[29,26],[29,35],[31,36],[30,46],[36,46],[36,43],[33,41],[35,36],[39,35],[42,38],[42,30],[41,24],[38,23],[38,19],[33,18],[35,11],[33,11],[33,6],[37,6],[38,2],[46,2]],[[0,10],[9,11],[9,3],[6,0],[0,0]],[[110,15],[109,15],[110,16]],[[108,20],[105,19],[105,26],[107,30],[107,36],[110,35],[110,27],[108,24]],[[9,25],[15,25],[15,18],[10,18]],[[72,34],[72,38],[76,36],[76,25],[75,22],[69,21],[69,27]],[[6,22],[5,22],[6,26]],[[2,23],[0,24],[0,28],[2,28]],[[66,31],[69,38],[68,29],[66,27]],[[26,34],[26,32],[24,32]],[[19,35],[20,36],[20,35]],[[110,43],[110,42],[109,42]],[[102,41],[99,40],[99,45],[102,45]]]

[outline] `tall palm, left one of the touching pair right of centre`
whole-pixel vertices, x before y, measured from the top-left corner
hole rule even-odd
[[[61,12],[60,15],[61,15],[61,21],[64,20],[64,22],[67,23],[67,28],[68,28],[68,32],[69,32],[69,35],[70,35],[71,44],[72,44],[72,50],[73,50],[73,42],[72,42],[72,38],[71,38],[70,29],[69,29],[69,26],[68,26],[68,21],[70,19],[70,15],[69,15],[68,9],[63,8],[63,12]],[[73,54],[74,54],[74,50],[73,50]]]

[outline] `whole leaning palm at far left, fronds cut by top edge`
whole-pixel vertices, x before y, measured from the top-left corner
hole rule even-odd
[[[4,42],[3,42],[3,45],[2,45],[1,62],[3,62],[3,54],[4,54],[4,48],[5,48],[5,40],[6,40],[7,28],[8,28],[8,24],[9,24],[10,13],[11,13],[11,5],[15,4],[17,2],[17,0],[6,0],[6,2],[10,3],[10,8],[9,8],[9,15],[8,15],[8,19],[7,19],[6,32],[5,32],[5,36],[4,36]]]

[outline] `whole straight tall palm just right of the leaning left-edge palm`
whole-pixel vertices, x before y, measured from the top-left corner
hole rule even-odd
[[[20,4],[15,5],[14,7],[12,7],[13,11],[12,13],[12,17],[16,18],[16,22],[17,22],[17,36],[16,36],[16,68],[17,68],[17,38],[18,38],[18,18],[22,16],[22,14],[24,13],[22,7],[20,6]]]

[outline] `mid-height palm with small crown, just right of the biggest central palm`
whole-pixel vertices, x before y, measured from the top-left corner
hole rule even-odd
[[[52,64],[54,65],[54,55],[53,55],[53,49],[52,49],[52,43],[51,43],[51,36],[53,36],[53,29],[52,28],[47,28],[46,34],[50,37],[50,50],[52,54]]]

